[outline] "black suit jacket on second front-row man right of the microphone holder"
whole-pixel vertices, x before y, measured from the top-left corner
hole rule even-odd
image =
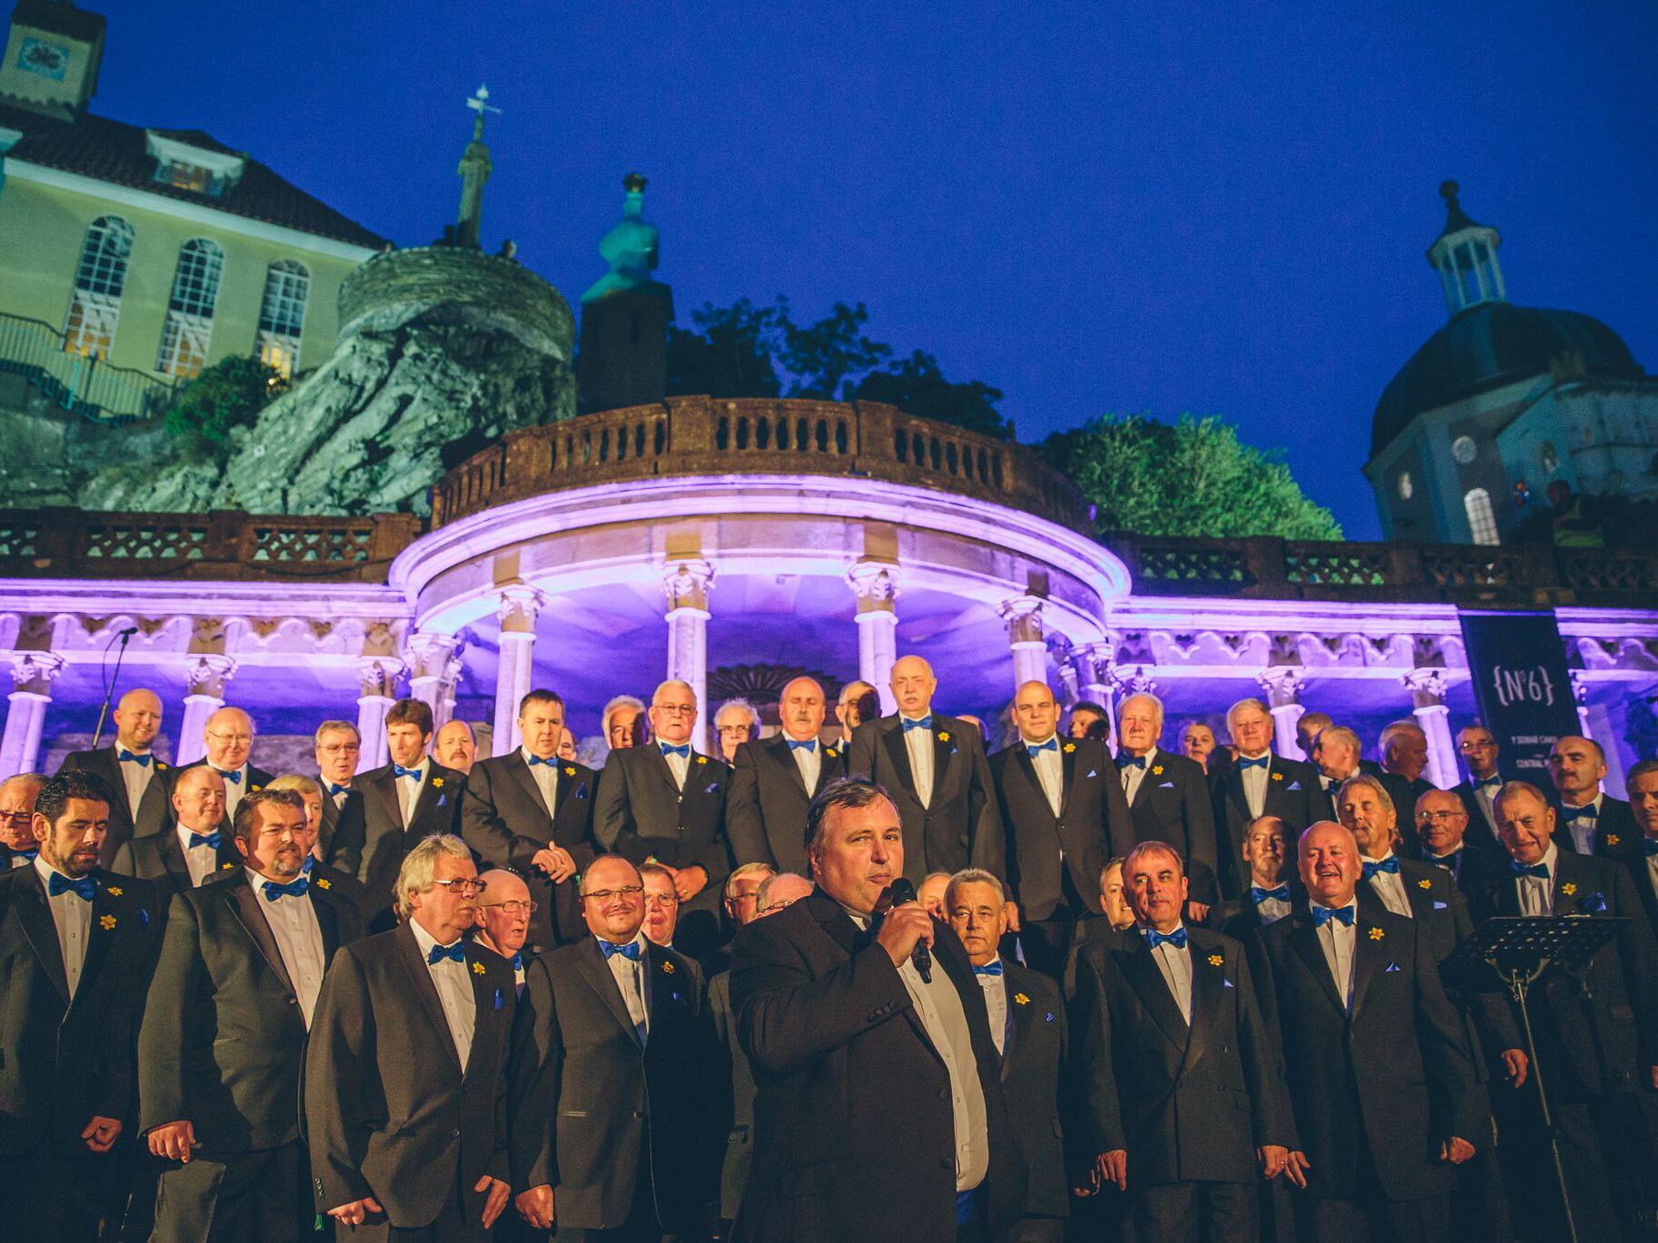
[[[1255,1182],[1255,1149],[1297,1147],[1283,1067],[1244,946],[1187,928],[1187,1026],[1139,930],[1076,965],[1081,1082],[1093,1150],[1129,1154],[1129,1187]]]

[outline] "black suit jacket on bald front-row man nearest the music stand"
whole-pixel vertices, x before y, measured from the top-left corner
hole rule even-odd
[[[1388,912],[1361,910],[1355,928],[1351,1014],[1305,908],[1257,933],[1308,1190],[1396,1202],[1449,1193],[1456,1167],[1439,1160],[1441,1144],[1456,1135],[1477,1147],[1491,1122],[1433,938]],[[1374,1173],[1360,1160],[1365,1147]]]

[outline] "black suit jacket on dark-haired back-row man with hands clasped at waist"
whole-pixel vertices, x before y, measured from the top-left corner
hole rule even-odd
[[[599,842],[594,840],[597,789],[597,772],[585,764],[560,759],[549,815],[541,786],[531,776],[522,751],[482,759],[466,776],[461,835],[486,863],[509,867],[524,878],[537,907],[529,920],[526,948],[536,953],[587,935],[575,902],[575,877],[554,885],[531,860],[537,850],[557,842],[570,852],[577,873],[587,870],[599,854]]]

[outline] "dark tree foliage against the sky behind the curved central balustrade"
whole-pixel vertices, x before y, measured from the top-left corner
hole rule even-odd
[[[1001,389],[977,380],[952,383],[930,353],[894,363],[890,345],[872,340],[862,302],[837,302],[829,315],[797,325],[788,298],[756,307],[703,305],[693,328],[668,330],[668,393],[715,398],[817,398],[885,401],[910,414],[1010,438],[996,403]]]

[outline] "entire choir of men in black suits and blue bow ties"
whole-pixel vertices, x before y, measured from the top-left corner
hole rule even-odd
[[[0,1212],[27,1238],[1554,1240],[1658,1226],[1658,761],[1547,791],[1457,734],[1379,764],[1257,699],[1162,747],[1149,693],[1006,744],[894,663],[779,729],[534,689],[476,759],[426,703],[360,771],[111,746],[0,782]],[[807,878],[809,877],[809,878]],[[902,890],[914,885],[914,895]],[[1615,920],[1529,994],[1492,917]],[[376,933],[368,935],[365,933]],[[1535,1039],[1535,1061],[1529,1037]],[[1552,1127],[1539,1077],[1547,1081]],[[1512,1212],[1510,1212],[1512,1202]]]

